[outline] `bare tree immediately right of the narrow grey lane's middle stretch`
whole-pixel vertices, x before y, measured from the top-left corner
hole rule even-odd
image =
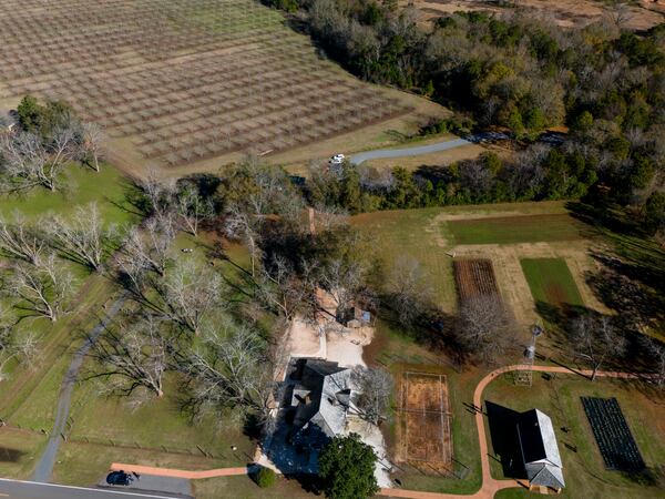
[[[106,389],[112,394],[132,396],[143,388],[149,395],[162,397],[173,348],[173,339],[163,326],[151,316],[109,325],[91,342],[89,356],[99,363],[100,370],[90,378],[108,378]]]

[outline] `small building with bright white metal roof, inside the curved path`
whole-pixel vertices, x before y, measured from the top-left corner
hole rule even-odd
[[[561,492],[565,483],[552,419],[538,409],[520,414],[518,437],[529,489],[544,487]]]

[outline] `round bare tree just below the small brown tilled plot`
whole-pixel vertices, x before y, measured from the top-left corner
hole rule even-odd
[[[516,325],[499,296],[479,295],[460,306],[456,337],[460,347],[484,364],[495,364],[514,345]]]

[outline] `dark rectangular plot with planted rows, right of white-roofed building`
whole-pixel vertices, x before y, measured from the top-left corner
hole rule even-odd
[[[605,467],[641,471],[644,460],[616,398],[580,397]]]

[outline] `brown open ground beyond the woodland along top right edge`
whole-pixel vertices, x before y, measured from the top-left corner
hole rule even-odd
[[[508,3],[508,2],[507,2]],[[510,12],[519,9],[531,11],[559,26],[582,28],[607,14],[602,1],[597,0],[515,0],[514,7],[483,0],[401,0],[400,6],[413,4],[420,12],[420,20],[428,22],[456,11]],[[631,4],[625,13],[624,27],[632,30],[645,30],[665,21],[665,1],[641,1]]]

